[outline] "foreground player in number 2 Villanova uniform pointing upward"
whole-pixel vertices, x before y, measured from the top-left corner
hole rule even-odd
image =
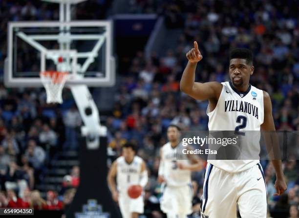
[[[254,72],[253,54],[235,48],[230,54],[230,82],[195,83],[195,68],[202,59],[198,45],[186,54],[189,60],[180,82],[181,91],[197,100],[208,100],[209,131],[275,131],[269,94],[249,84]],[[272,160],[275,188],[281,195],[286,183],[281,160]],[[266,183],[259,160],[208,160],[202,218],[266,218]]]

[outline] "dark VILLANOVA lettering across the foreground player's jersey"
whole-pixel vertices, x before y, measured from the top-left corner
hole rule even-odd
[[[243,102],[240,100],[229,100],[225,101],[225,112],[229,111],[240,111],[244,113],[248,113],[256,117],[258,119],[258,108],[250,104],[249,102]]]

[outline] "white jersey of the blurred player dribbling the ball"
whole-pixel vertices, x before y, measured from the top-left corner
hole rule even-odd
[[[134,156],[133,161],[128,164],[124,156],[120,156],[117,161],[116,182],[120,193],[127,193],[128,187],[138,185],[141,178],[142,158]]]

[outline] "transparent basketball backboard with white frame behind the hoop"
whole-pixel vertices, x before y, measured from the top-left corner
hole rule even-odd
[[[111,21],[10,22],[5,60],[7,87],[42,87],[40,72],[58,70],[63,58],[68,85],[113,86]]]

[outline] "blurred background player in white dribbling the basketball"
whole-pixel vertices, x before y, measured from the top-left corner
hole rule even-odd
[[[144,188],[148,183],[146,164],[135,153],[135,145],[126,143],[123,146],[123,156],[112,163],[108,173],[108,185],[113,199],[119,203],[123,218],[138,218],[144,211],[143,195],[135,199],[128,196],[128,188],[131,185],[140,185]]]

